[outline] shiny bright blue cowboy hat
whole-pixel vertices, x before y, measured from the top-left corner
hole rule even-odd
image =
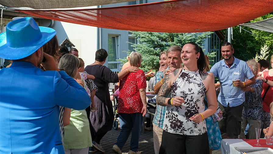
[[[9,22],[6,32],[0,34],[0,57],[22,59],[37,51],[51,40],[56,30],[38,26],[31,17]]]

